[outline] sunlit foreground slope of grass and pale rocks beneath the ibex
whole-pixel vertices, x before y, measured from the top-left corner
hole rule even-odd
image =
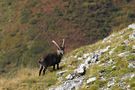
[[[37,68],[20,68],[0,76],[0,89],[134,90],[135,24],[107,38],[67,53],[61,69],[38,76]]]

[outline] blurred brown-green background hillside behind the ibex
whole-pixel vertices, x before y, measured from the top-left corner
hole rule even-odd
[[[135,21],[134,0],[0,0],[0,74],[36,68],[66,39],[67,51]]]

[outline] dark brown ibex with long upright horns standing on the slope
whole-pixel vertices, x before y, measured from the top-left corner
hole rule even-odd
[[[40,64],[39,76],[41,75],[42,71],[43,71],[43,75],[44,75],[47,67],[49,67],[49,66],[53,66],[53,70],[55,70],[55,65],[57,65],[57,69],[59,69],[59,63],[64,54],[65,39],[63,39],[61,46],[59,46],[54,40],[52,40],[52,42],[54,43],[54,45],[56,45],[57,52],[49,53],[45,57],[43,57],[39,60],[39,64]]]

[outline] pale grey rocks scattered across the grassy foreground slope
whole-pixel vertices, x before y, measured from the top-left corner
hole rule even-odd
[[[106,46],[103,49],[98,49],[96,51],[93,52],[87,52],[84,53],[81,56],[77,56],[74,55],[72,57],[76,58],[77,60],[82,61],[81,64],[78,65],[78,67],[76,69],[73,70],[72,73],[68,74],[65,78],[66,80],[62,82],[61,85],[56,86],[54,88],[51,88],[50,90],[78,90],[79,87],[82,86],[83,83],[86,83],[86,85],[90,85],[93,82],[95,82],[96,80],[100,80],[100,81],[105,81],[106,82],[106,86],[103,86],[101,88],[99,88],[99,90],[111,90],[111,87],[117,85],[120,86],[122,89],[125,90],[130,90],[130,85],[126,84],[124,82],[124,80],[126,79],[132,79],[135,77],[134,73],[131,74],[125,74],[121,77],[121,80],[118,82],[117,78],[118,77],[111,77],[111,78],[107,78],[105,76],[106,71],[105,70],[101,70],[99,71],[99,77],[96,76],[90,76],[89,78],[85,78],[85,73],[87,73],[87,70],[92,66],[92,65],[99,65],[101,67],[104,68],[108,68],[110,70],[116,70],[117,69],[117,62],[113,59],[113,58],[108,58],[106,61],[100,63],[100,57],[102,57],[102,55],[104,55],[104,53],[107,53],[107,55],[113,55],[115,54],[115,50],[118,48],[118,46],[120,45],[125,45],[126,47],[128,47],[130,45],[130,41],[135,39],[135,24],[129,25],[129,27],[127,29],[133,29],[133,33],[131,33],[129,35],[129,38],[126,38],[125,40],[123,40],[123,34],[126,32],[126,29],[124,29],[123,31],[119,32],[118,35],[121,35],[120,37],[117,37],[117,39],[122,39],[123,41],[121,42],[121,44],[117,45],[117,46],[113,46],[111,47],[111,45],[108,44],[108,46]],[[112,34],[109,37],[105,38],[102,43],[106,43],[106,42],[112,42],[113,38],[115,38],[116,35]],[[132,46],[132,50],[135,49],[135,46]],[[128,50],[124,50],[121,52],[118,52],[116,54],[116,57],[118,58],[126,58],[129,55],[134,55],[134,52],[130,52]],[[127,61],[128,62],[128,61]],[[134,60],[132,60],[132,62],[128,62],[128,68],[135,68],[135,63]],[[64,72],[59,72],[58,75],[62,76]]]

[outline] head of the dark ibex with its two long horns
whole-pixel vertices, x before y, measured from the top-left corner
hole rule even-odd
[[[61,46],[59,46],[54,40],[52,40],[52,42],[57,47],[57,53],[58,53],[58,55],[63,55],[64,54],[64,49],[65,49],[65,39],[62,40]]]

